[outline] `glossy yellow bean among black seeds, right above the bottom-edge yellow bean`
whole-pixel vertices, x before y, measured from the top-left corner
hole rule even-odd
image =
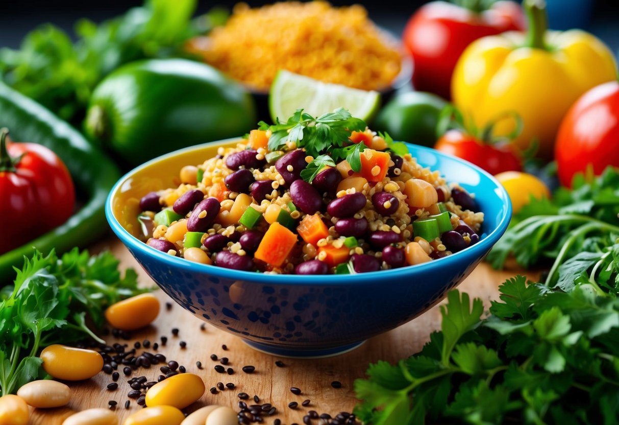
[[[206,387],[198,375],[179,374],[158,382],[146,393],[147,406],[174,406],[184,409],[204,394]]]

